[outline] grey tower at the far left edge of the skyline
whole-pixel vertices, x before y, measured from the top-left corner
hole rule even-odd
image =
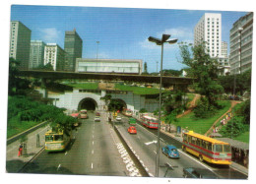
[[[28,70],[32,31],[19,21],[11,21],[9,57],[20,61],[19,69]]]

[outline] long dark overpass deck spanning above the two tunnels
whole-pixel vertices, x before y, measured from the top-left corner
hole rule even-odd
[[[130,81],[139,83],[160,83],[159,76],[145,76],[145,75],[132,75],[132,74],[115,74],[115,73],[75,73],[75,72],[58,72],[58,71],[34,71],[22,70],[19,71],[21,77],[33,77],[44,80],[64,80],[64,79],[95,79],[104,81]],[[193,78],[183,77],[162,77],[163,87],[167,86],[183,86],[187,87],[193,83]]]

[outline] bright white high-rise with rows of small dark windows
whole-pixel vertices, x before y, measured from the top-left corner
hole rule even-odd
[[[205,13],[194,28],[194,45],[206,42],[210,57],[222,54],[222,15]]]

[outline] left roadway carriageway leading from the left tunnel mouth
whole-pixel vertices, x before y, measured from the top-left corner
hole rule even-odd
[[[117,149],[111,125],[103,116],[100,122],[94,121],[95,114],[83,120],[77,131],[73,132],[70,147],[61,153],[40,153],[22,172],[50,174],[82,174],[127,176],[126,169]]]

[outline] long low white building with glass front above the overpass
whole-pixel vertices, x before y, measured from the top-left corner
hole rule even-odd
[[[78,58],[76,72],[141,74],[142,60]]]

